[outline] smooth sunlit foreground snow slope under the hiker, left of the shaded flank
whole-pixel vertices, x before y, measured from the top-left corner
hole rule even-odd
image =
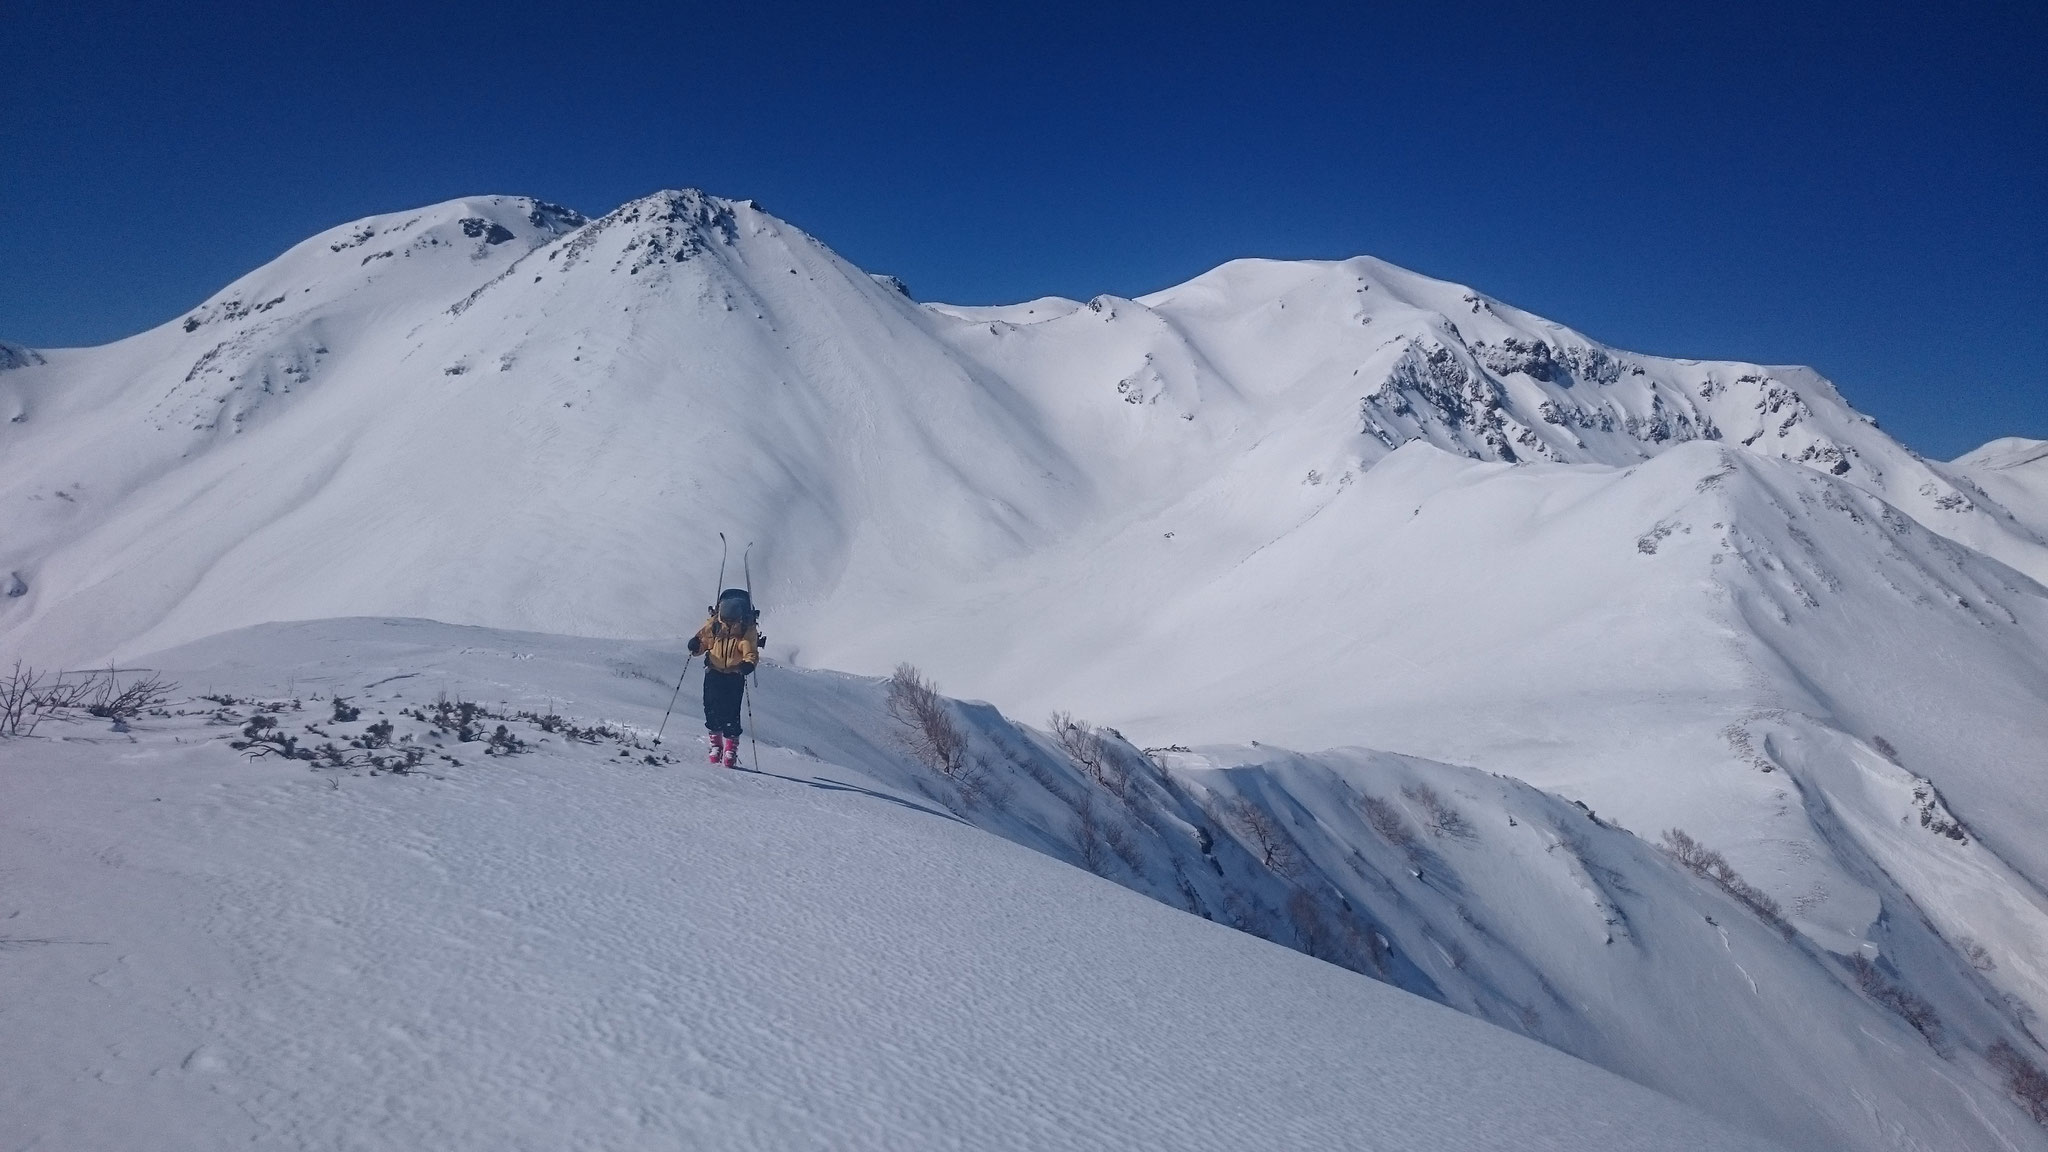
[[[612,646],[422,621],[162,662],[334,730],[664,697]],[[207,713],[254,709],[195,703],[0,742],[6,1148],[1767,1148],[801,750],[365,777],[244,760]]]

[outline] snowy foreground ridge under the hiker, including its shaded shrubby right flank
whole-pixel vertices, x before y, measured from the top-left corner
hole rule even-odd
[[[0,740],[31,1146],[1749,1146],[1421,998],[1788,1148],[2048,1146],[1925,920],[1833,955],[1487,773],[782,666],[723,773],[674,650],[428,621],[152,664]]]

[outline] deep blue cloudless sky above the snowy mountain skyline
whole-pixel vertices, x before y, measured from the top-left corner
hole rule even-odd
[[[0,338],[469,193],[756,197],[922,299],[1370,252],[2048,437],[2048,6],[0,4]]]

